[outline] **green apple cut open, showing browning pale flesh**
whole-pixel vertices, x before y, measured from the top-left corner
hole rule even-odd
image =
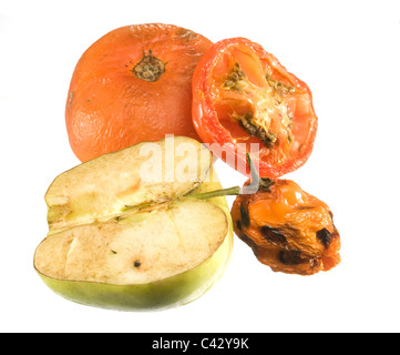
[[[209,151],[171,136],[83,163],[48,190],[49,234],[34,267],[60,295],[114,310],[202,296],[224,273],[233,227]]]

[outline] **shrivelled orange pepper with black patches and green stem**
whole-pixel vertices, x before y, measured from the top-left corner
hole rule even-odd
[[[230,211],[234,231],[258,261],[275,272],[299,275],[337,266],[340,235],[329,206],[294,181],[259,179],[249,155],[248,164],[252,179],[245,193],[238,187],[219,193],[238,194]]]

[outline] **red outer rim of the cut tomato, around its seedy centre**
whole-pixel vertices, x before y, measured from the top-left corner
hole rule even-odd
[[[317,133],[318,118],[315,113],[311,92],[307,84],[289,73],[286,68],[281,65],[273,54],[266,52],[261,45],[245,38],[226,39],[216,42],[202,57],[192,80],[192,118],[194,126],[204,143],[218,143],[219,145],[224,145],[226,151],[228,151],[227,154],[234,156],[234,159],[226,159],[226,156],[222,156],[220,151],[214,150],[213,146],[211,146],[212,151],[218,158],[222,158],[236,170],[239,162],[240,166],[246,166],[246,164],[243,163],[246,162],[246,150],[237,144],[236,140],[230,134],[232,132],[220,123],[218,112],[215,108],[215,99],[213,98],[213,94],[215,95],[215,90],[212,84],[213,75],[217,77],[224,74],[220,69],[220,67],[223,67],[220,63],[224,60],[224,55],[228,52],[236,51],[237,49],[240,53],[244,53],[244,57],[250,53],[258,58],[264,68],[269,68],[269,70],[273,71],[275,80],[290,84],[306,98],[304,101],[301,101],[302,99],[296,99],[297,109],[295,112],[295,124],[293,130],[299,132],[298,136],[300,139],[296,142],[298,149],[290,152],[288,159],[279,164],[266,161],[263,159],[261,154],[259,159],[253,156],[261,178],[279,178],[304,165],[310,156]],[[264,78],[260,78],[260,73],[263,72],[256,68],[257,65],[253,67],[248,65],[248,68],[246,68],[247,74],[252,77],[253,82],[261,82],[265,80]],[[238,126],[238,124],[236,125]],[[247,175],[249,171],[240,172]]]

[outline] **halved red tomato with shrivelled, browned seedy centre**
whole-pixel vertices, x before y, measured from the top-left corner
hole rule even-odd
[[[244,38],[215,43],[192,84],[195,129],[234,169],[246,166],[249,152],[260,176],[279,178],[309,158],[318,124],[311,92],[261,45]]]

